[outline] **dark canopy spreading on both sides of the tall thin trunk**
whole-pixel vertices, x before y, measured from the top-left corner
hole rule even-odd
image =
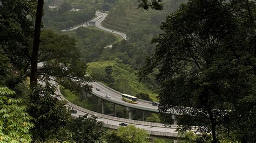
[[[38,58],[35,59],[36,54],[32,55],[35,9],[35,2],[2,1],[0,30],[3,32],[0,34],[0,57],[4,62],[2,66],[6,67],[1,69],[8,75],[2,84],[14,88],[25,78],[31,77],[31,63],[36,61],[41,63],[40,68],[36,70],[39,80],[49,81],[51,76],[59,77],[55,80],[62,81],[66,87],[79,90],[84,88],[86,92],[90,92],[90,86],[82,84],[91,79],[84,76],[86,63],[80,61],[74,39],[52,31],[43,31]]]

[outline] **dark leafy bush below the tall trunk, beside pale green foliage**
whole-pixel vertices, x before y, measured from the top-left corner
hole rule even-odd
[[[33,139],[42,141],[57,139],[58,132],[68,124],[71,118],[65,102],[53,97],[56,88],[46,83],[45,87],[37,86],[29,95],[29,113],[35,119],[32,130]]]

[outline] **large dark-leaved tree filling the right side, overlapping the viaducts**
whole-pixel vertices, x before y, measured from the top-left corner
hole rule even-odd
[[[176,109],[181,131],[197,125],[214,142],[221,135],[255,140],[255,29],[231,8],[204,0],[181,5],[160,25],[156,51],[139,73],[157,73],[159,110]]]

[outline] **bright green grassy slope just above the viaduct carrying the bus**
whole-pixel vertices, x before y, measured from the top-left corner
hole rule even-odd
[[[106,82],[107,74],[105,72],[105,68],[107,66],[111,66],[113,69],[111,74],[114,79],[113,83]],[[157,95],[147,89],[143,83],[140,83],[136,75],[136,71],[127,65],[118,63],[116,61],[91,62],[88,64],[87,73],[117,91],[130,95],[144,92],[149,94],[153,101],[157,101]]]

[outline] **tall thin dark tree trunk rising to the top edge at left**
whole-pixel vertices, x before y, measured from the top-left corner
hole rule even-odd
[[[34,31],[33,49],[31,56],[31,73],[30,73],[30,85],[35,86],[37,84],[37,61],[38,61],[38,51],[40,44],[40,34],[41,34],[41,23],[43,17],[43,6],[44,0],[37,1],[36,10],[36,23]]]

